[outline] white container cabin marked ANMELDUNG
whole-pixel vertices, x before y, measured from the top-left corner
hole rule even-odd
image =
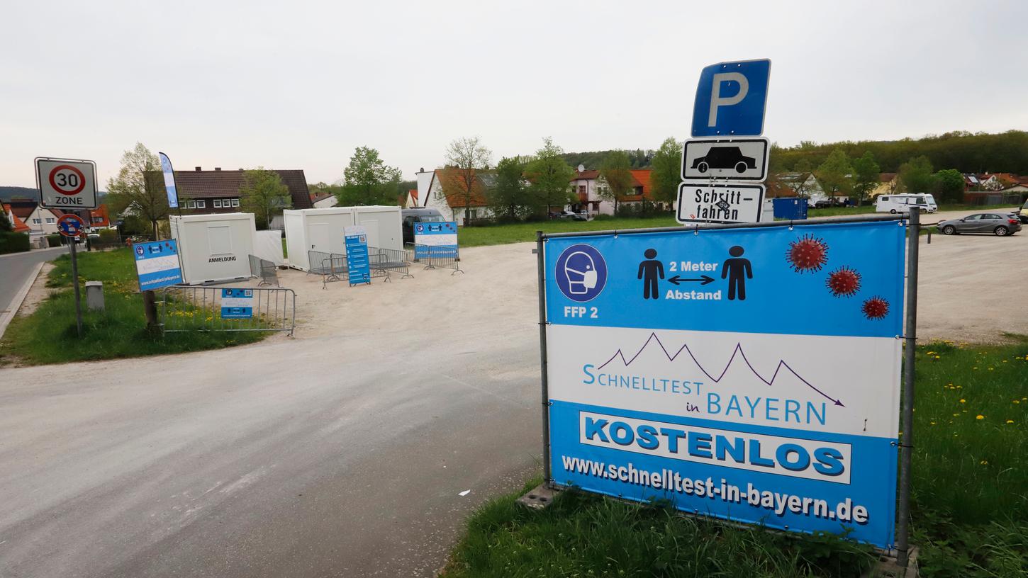
[[[188,284],[250,278],[256,227],[251,213],[172,215],[182,280]]]

